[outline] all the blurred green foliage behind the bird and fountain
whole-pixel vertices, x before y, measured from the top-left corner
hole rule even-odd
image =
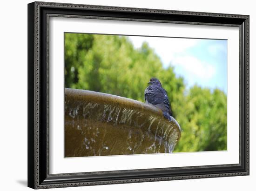
[[[172,66],[164,69],[154,50],[135,49],[125,36],[65,33],[65,86],[144,101],[148,80],[168,92],[182,137],[175,152],[227,149],[227,97],[216,89],[186,90]],[[186,92],[187,91],[187,92]]]

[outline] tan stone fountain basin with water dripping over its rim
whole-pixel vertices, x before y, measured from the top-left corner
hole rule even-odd
[[[181,136],[172,119],[140,101],[65,88],[65,157],[172,152]]]

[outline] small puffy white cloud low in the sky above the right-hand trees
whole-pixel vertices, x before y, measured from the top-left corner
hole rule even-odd
[[[184,73],[194,75],[194,78],[201,80],[211,79],[215,73],[216,68],[209,63],[202,62],[194,56],[179,56],[172,60],[173,66],[180,66]]]

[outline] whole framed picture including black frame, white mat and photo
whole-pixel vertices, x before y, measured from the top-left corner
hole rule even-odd
[[[28,186],[249,175],[249,15],[28,4]]]

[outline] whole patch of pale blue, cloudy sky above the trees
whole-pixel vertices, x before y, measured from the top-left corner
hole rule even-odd
[[[189,87],[197,84],[227,93],[227,40],[128,38],[135,48],[146,41],[162,60],[163,67],[174,66],[175,73],[182,76]]]

